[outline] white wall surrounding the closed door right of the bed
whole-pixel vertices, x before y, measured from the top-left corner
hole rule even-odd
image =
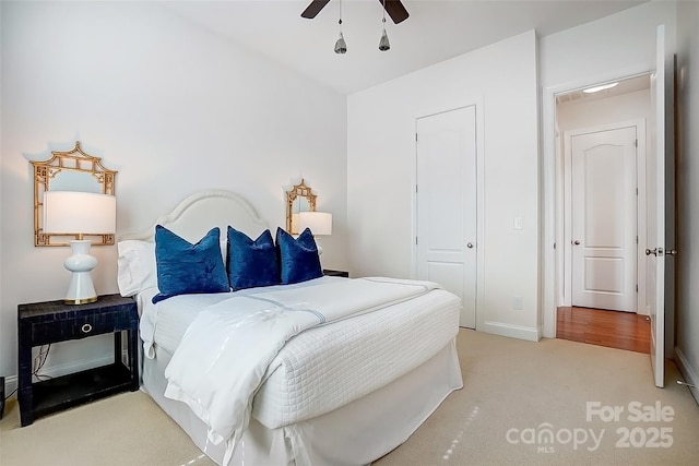
[[[514,77],[516,76],[516,77]],[[353,94],[347,100],[352,271],[410,277],[415,119],[477,104],[485,141],[479,330],[537,339],[536,36],[528,32]],[[524,229],[513,229],[523,217]],[[512,298],[523,298],[523,310]]]

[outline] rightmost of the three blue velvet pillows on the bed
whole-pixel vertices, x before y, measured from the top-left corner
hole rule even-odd
[[[310,229],[306,228],[294,239],[282,228],[277,228],[276,248],[280,254],[280,277],[284,285],[323,276],[318,247]]]

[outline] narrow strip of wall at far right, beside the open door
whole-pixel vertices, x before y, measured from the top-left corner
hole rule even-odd
[[[677,347],[685,379],[699,386],[699,3],[677,9]],[[699,390],[692,390],[699,401]]]

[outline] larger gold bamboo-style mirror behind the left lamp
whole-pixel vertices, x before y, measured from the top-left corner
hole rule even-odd
[[[44,231],[44,193],[48,191],[81,191],[115,195],[117,171],[102,165],[102,158],[85,154],[75,141],[68,152],[51,151],[51,158],[34,162],[34,246],[69,246],[79,234],[51,234]],[[115,243],[114,232],[90,234],[93,244]]]

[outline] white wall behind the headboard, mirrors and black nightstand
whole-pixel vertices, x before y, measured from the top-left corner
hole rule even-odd
[[[246,196],[284,225],[303,175],[334,214],[325,266],[347,267],[346,100],[156,2],[2,2],[0,374],[16,374],[16,307],[60,299],[68,248],[33,246],[26,157],[82,142],[119,171],[117,236],[194,191]],[[98,294],[116,292],[116,247],[95,247]],[[109,338],[56,345],[50,367],[108,357]],[[96,342],[93,342],[96,340]]]

